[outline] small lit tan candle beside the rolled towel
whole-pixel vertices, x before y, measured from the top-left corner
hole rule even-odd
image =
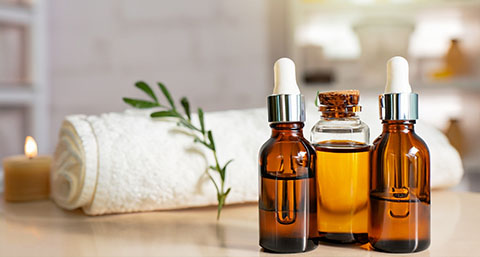
[[[25,139],[25,155],[3,159],[4,197],[6,201],[21,202],[49,197],[50,156],[37,156],[33,137]]]

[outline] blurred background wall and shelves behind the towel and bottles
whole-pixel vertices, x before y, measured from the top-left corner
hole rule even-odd
[[[376,104],[394,55],[410,61],[421,122],[462,155],[459,188],[480,191],[474,0],[0,0],[0,158],[26,135],[52,153],[66,115],[122,111],[138,80],[207,111],[262,107],[285,56],[310,100],[356,88]]]

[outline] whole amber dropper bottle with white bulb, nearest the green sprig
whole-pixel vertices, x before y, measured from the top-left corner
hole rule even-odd
[[[267,97],[272,135],[259,154],[259,243],[272,252],[305,252],[317,246],[315,150],[303,137],[305,100],[295,64],[281,58],[274,73]]]

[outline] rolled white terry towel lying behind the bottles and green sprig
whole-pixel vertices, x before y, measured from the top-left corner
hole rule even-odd
[[[305,136],[316,120],[311,106]],[[63,208],[99,215],[205,206],[217,203],[205,174],[211,152],[193,143],[174,120],[150,119],[151,111],[128,110],[100,116],[68,116],[60,130],[52,173],[52,197]],[[372,116],[369,122],[379,127]],[[265,109],[206,113],[221,164],[232,187],[227,203],[258,199],[258,150],[269,138]],[[432,187],[461,178],[460,157],[445,136],[419,124],[430,147]],[[376,137],[377,133],[374,134]]]

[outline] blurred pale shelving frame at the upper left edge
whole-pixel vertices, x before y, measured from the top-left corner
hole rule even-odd
[[[20,1],[19,4],[0,4],[0,23],[27,28],[25,41],[25,83],[0,83],[0,106],[27,108],[26,133],[37,140],[41,151],[50,152],[47,79],[47,1]],[[8,49],[7,49],[8,50]]]

